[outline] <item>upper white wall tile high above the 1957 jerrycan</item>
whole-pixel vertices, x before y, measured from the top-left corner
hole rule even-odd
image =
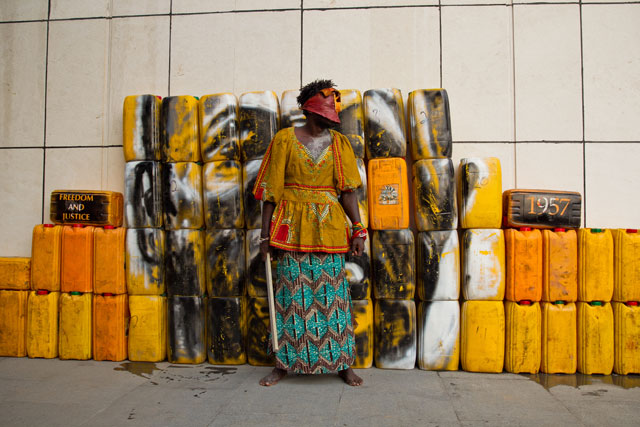
[[[516,138],[582,140],[580,7],[514,6]]]

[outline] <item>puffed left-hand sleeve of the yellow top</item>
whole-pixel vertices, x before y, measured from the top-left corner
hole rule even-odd
[[[253,187],[253,195],[258,200],[278,203],[284,190],[284,170],[287,162],[288,143],[284,131],[273,137]]]

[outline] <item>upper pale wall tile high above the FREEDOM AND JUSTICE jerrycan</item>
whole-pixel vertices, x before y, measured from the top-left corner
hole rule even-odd
[[[47,146],[102,145],[109,21],[49,26]]]

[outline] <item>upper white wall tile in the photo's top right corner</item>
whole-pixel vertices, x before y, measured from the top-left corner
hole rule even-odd
[[[582,7],[587,141],[640,140],[640,4]]]

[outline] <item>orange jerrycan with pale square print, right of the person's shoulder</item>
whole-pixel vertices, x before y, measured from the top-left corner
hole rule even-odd
[[[405,160],[371,159],[368,171],[369,226],[374,230],[408,228],[409,184]]]

